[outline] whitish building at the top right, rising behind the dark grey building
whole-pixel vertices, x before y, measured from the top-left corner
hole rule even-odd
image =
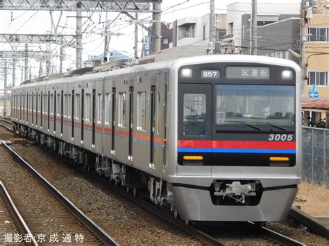
[[[226,34],[233,34],[235,46],[241,46],[243,33],[242,15],[251,13],[251,0],[248,2],[235,2],[227,6]],[[269,24],[278,21],[278,14],[298,15],[301,8],[301,1],[258,1],[258,23]]]

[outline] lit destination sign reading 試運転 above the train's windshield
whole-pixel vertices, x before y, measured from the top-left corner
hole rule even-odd
[[[269,78],[269,67],[226,67],[226,78]]]

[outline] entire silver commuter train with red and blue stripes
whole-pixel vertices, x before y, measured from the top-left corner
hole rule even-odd
[[[203,55],[39,78],[12,89],[12,124],[186,222],[283,220],[301,182],[289,60]]]

